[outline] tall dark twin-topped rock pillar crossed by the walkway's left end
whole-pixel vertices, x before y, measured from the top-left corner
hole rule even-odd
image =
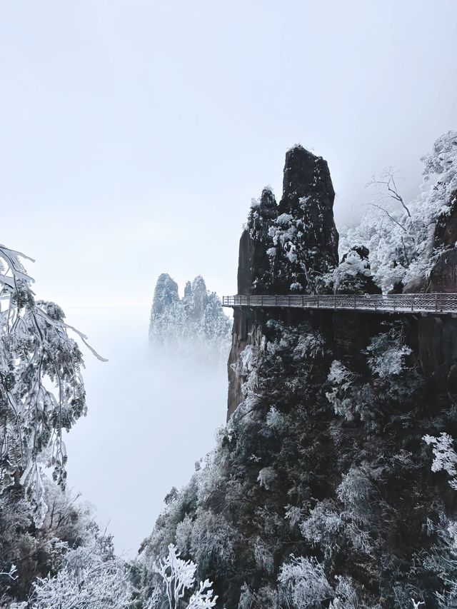
[[[269,188],[251,207],[240,239],[238,294],[288,294],[323,291],[323,273],[338,265],[338,233],[333,220],[335,191],[326,161],[302,146],[286,153],[283,196],[279,205]],[[242,400],[233,365],[239,353],[255,345],[256,314],[233,314],[229,356],[228,416]]]

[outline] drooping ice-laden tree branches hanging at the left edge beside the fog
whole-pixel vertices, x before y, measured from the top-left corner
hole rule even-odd
[[[46,469],[64,486],[62,431],[86,413],[81,352],[68,331],[86,337],[64,322],[59,306],[35,301],[20,258],[0,246],[0,493],[24,485],[40,527]]]

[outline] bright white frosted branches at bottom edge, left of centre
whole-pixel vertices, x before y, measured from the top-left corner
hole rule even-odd
[[[214,596],[209,580],[200,582],[196,587],[196,569],[197,565],[191,560],[180,558],[172,543],[169,545],[169,554],[157,560],[155,571],[161,578],[164,600],[169,609],[180,609],[181,600],[189,594],[191,596],[187,609],[211,609],[216,605],[217,596]],[[196,590],[191,593],[195,587]]]

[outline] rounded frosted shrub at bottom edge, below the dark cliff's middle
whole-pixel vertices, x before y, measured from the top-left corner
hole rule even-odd
[[[323,566],[315,558],[292,555],[281,566],[278,584],[279,598],[285,607],[317,609],[323,601],[333,598]]]

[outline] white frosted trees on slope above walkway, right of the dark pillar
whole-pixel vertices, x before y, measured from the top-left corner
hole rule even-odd
[[[381,200],[375,199],[376,206],[366,208],[358,226],[340,231],[341,254],[353,243],[369,249],[373,278],[383,291],[398,281],[423,282],[431,271],[438,253],[433,249],[436,222],[449,213],[451,194],[457,189],[457,132],[438,138],[422,161],[422,192],[407,209],[386,191]]]

